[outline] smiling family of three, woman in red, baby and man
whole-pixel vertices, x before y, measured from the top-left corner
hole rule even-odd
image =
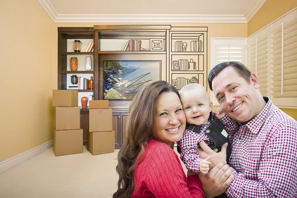
[[[135,96],[113,198],[297,197],[296,120],[261,96],[239,62],[215,66],[208,84],[220,103],[214,112],[198,84],[178,92],[157,81]]]

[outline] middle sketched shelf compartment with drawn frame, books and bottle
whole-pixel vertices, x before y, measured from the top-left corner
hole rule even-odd
[[[203,71],[203,55],[172,55],[171,71]]]

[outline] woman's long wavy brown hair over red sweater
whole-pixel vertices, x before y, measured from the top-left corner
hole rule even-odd
[[[179,96],[177,89],[166,81],[156,81],[137,93],[129,106],[126,142],[118,153],[116,167],[119,174],[118,190],[113,198],[132,196],[135,188],[134,170],[143,160],[148,139],[152,137],[154,106],[164,92],[174,92]]]

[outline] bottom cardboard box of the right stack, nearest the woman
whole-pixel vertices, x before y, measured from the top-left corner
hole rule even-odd
[[[114,131],[88,133],[88,150],[92,155],[114,152]]]

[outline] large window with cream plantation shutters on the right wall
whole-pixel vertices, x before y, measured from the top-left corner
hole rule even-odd
[[[297,108],[297,9],[248,38],[247,66],[260,92],[278,107]]]

